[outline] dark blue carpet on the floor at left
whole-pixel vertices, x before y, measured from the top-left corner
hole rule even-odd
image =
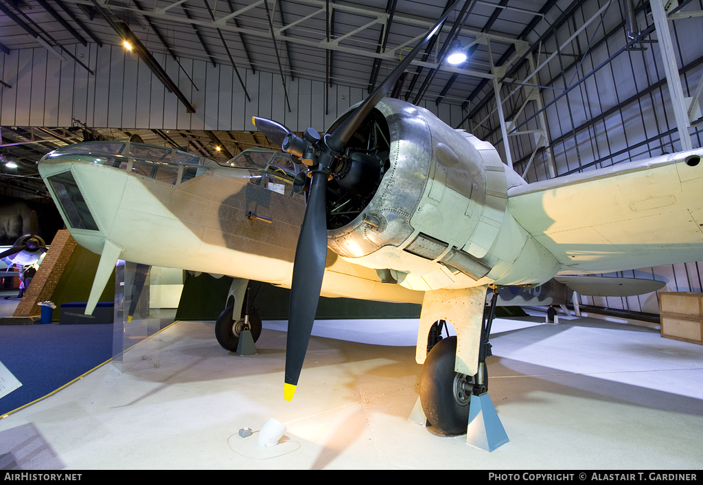
[[[22,383],[0,415],[46,396],[112,357],[112,325],[0,325],[0,362]]]

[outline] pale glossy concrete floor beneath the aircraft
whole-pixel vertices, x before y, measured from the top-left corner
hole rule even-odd
[[[489,393],[510,442],[491,453],[408,420],[417,320],[347,320],[316,322],[290,403],[285,322],[264,322],[248,357],[224,351],[212,322],[176,322],[129,351],[125,372],[104,365],[0,420],[0,455],[23,470],[701,470],[703,346],[560,321],[494,322]],[[259,448],[270,417],[288,429]]]

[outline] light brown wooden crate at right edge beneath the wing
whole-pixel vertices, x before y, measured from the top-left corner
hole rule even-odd
[[[660,293],[662,336],[703,345],[703,294]]]

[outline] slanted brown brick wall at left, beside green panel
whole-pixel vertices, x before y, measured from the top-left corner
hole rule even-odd
[[[14,317],[30,317],[41,313],[37,303],[51,298],[76,244],[67,229],[56,233],[37,274],[32,278],[32,284],[25,291],[25,296],[22,296]]]

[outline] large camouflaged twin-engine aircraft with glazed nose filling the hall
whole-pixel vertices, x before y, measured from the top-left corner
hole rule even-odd
[[[246,151],[220,164],[95,142],[42,158],[72,236],[101,254],[86,313],[118,258],[290,287],[290,400],[320,295],[421,301],[423,410],[458,434],[470,396],[487,387],[489,288],[703,259],[703,150],[527,184],[491,144],[385,98],[443,21],[324,136],[254,118],[285,153]],[[236,318],[221,320],[230,332]],[[457,336],[427,354],[435,322]]]

